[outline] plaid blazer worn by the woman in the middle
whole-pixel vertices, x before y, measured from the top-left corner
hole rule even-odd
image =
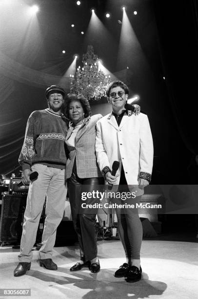
[[[77,175],[79,178],[101,177],[102,173],[96,158],[96,123],[102,118],[101,114],[89,116],[84,119],[75,138],[75,147],[67,140],[71,136],[73,127],[68,129],[65,143],[68,160],[65,168],[65,178],[70,178],[76,158]]]

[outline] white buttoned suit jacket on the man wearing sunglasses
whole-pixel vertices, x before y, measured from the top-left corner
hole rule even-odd
[[[97,122],[96,155],[100,171],[120,162],[128,185],[138,185],[140,171],[152,173],[153,139],[148,117],[127,111],[118,126],[114,115],[108,114]],[[120,176],[116,185],[119,185]]]

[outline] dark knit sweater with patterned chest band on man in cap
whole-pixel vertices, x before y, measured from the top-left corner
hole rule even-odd
[[[64,141],[68,122],[63,115],[49,109],[31,113],[27,121],[19,163],[22,170],[31,169],[35,163],[65,165]]]

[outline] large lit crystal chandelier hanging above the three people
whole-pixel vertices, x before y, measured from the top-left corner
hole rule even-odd
[[[76,77],[70,75],[70,93],[82,94],[88,100],[96,101],[106,96],[110,75],[107,77],[99,70],[97,60],[93,46],[88,45],[87,53],[82,56],[83,67],[77,68]]]

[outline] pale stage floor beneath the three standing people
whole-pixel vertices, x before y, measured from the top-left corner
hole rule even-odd
[[[33,251],[31,270],[14,277],[19,250],[0,247],[0,288],[31,289],[31,299],[124,299],[124,298],[198,298],[198,243],[155,238],[143,240],[141,248],[142,279],[127,283],[114,273],[124,262],[119,240],[98,241],[101,270],[92,274],[88,268],[70,272],[79,259],[78,244],[55,247],[53,260],[57,271],[39,266],[38,251]],[[170,239],[172,239],[170,237]],[[8,298],[8,297],[0,297]],[[13,297],[19,298],[19,297]]]

